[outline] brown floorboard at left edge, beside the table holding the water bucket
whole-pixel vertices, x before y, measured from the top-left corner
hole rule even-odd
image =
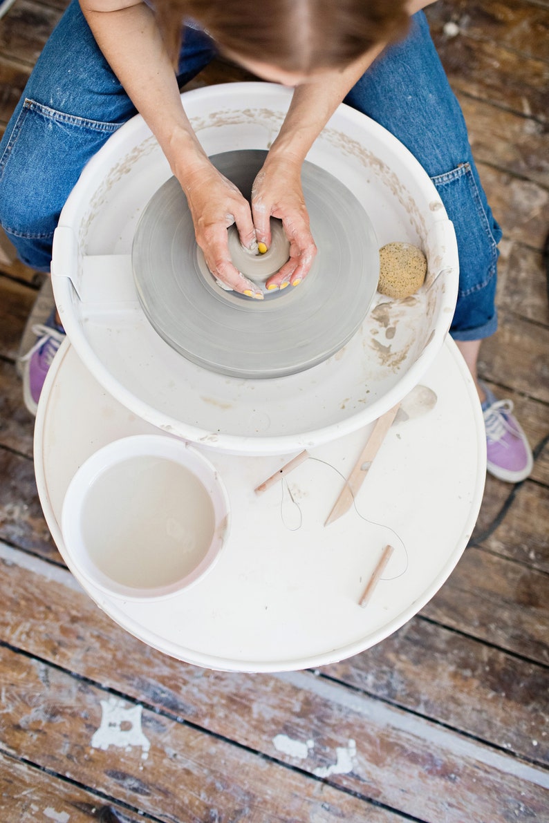
[[[31,460],[0,449],[0,539],[62,563],[44,520]]]

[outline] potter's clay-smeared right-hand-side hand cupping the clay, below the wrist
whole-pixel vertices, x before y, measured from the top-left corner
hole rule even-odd
[[[258,243],[271,244],[270,218],[282,221],[290,241],[290,259],[269,277],[268,288],[297,286],[307,276],[316,246],[301,188],[301,163],[288,156],[267,156],[252,189],[252,214]]]

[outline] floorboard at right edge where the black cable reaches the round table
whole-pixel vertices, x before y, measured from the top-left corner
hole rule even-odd
[[[549,447],[547,448],[549,451]],[[491,477],[486,478],[484,497],[472,541],[478,542],[490,531],[505,501],[513,493],[514,500],[505,518],[481,545],[495,554],[549,573],[549,491],[547,486],[526,481],[515,490],[513,486]]]

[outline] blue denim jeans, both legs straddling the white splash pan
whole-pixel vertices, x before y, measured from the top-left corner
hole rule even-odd
[[[216,53],[187,27],[179,85]],[[495,270],[500,227],[472,160],[458,102],[430,40],[425,16],[406,40],[386,49],[346,102],[381,123],[420,161],[454,222],[459,251],[458,340],[495,331]],[[87,160],[136,114],[100,53],[77,0],[44,47],[0,143],[0,224],[30,267],[49,271],[59,214]]]

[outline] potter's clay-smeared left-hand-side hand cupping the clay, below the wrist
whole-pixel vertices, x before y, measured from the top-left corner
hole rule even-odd
[[[193,216],[194,233],[214,277],[241,294],[263,299],[263,291],[233,266],[227,229],[235,223],[246,249],[255,244],[249,202],[211,163],[185,174],[181,186]]]

